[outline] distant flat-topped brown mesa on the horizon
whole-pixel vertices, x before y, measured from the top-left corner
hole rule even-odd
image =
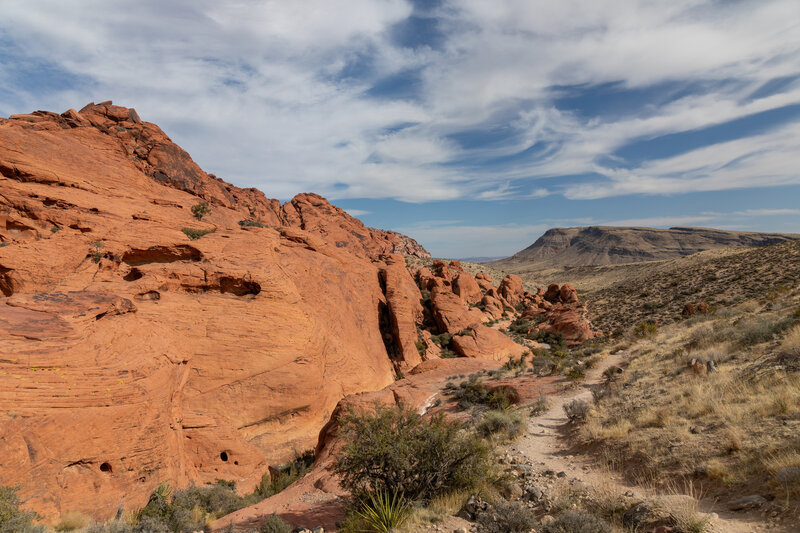
[[[617,265],[674,259],[715,248],[767,246],[799,239],[797,233],[692,227],[552,228],[531,246],[492,264],[512,269],[523,265],[537,268]]]

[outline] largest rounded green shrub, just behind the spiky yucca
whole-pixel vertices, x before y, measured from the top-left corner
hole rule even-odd
[[[429,500],[475,487],[491,472],[488,444],[441,415],[424,420],[404,407],[350,410],[341,433],[346,444],[335,469],[358,500],[378,490]]]

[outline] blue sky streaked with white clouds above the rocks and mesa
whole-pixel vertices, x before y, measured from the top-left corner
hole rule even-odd
[[[106,99],[437,256],[800,232],[797,0],[0,0],[0,116]]]

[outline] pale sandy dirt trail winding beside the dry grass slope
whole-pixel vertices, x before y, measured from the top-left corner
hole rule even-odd
[[[534,467],[541,470],[564,472],[567,479],[576,479],[584,485],[603,490],[611,490],[624,494],[632,491],[636,494],[656,496],[645,488],[631,485],[619,476],[611,474],[596,464],[590,456],[570,455],[569,444],[565,442],[563,430],[569,424],[564,414],[564,404],[575,399],[592,401],[591,386],[603,380],[603,371],[612,365],[620,366],[625,362],[625,354],[608,356],[605,360],[587,372],[581,387],[568,390],[550,398],[550,407],[541,415],[530,419],[527,434],[508,447],[512,455],[523,456]],[[789,532],[788,529],[767,527],[759,515],[746,516],[741,513],[730,513],[718,510],[713,501],[700,501],[698,508],[711,515],[711,531],[714,533],[751,533],[758,531]]]

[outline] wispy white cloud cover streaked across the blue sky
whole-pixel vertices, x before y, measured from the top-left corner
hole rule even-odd
[[[799,103],[800,83],[748,98],[800,72],[796,0],[450,0],[429,11],[440,48],[392,41],[412,13],[406,0],[0,0],[13,52],[0,58],[0,93],[7,112],[107,98],[136,106],[208,171],[283,199],[309,190],[412,202],[602,198],[800,183],[795,125],[630,170],[598,162],[633,140]],[[58,86],[36,61],[77,81]],[[41,79],[15,80],[19,62]],[[418,73],[416,98],[366,94],[404,72]],[[706,88],[595,118],[556,109],[551,92],[664,82]],[[501,142],[469,149],[452,138],[503,128]],[[535,161],[511,157],[534,145]],[[601,179],[559,183],[588,173]],[[532,178],[548,181],[517,183]]]

